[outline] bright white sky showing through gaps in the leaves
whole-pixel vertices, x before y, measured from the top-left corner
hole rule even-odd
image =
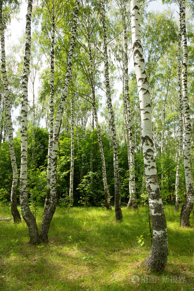
[[[175,8],[175,10],[177,9],[177,6],[175,4],[171,5],[172,8]],[[159,11],[163,11],[163,9],[167,8],[167,5],[163,5],[161,0],[156,0],[156,1],[152,1],[151,3],[149,3],[148,9],[149,10],[159,10]],[[8,31],[6,33],[6,36],[8,37],[5,38],[5,45],[6,45],[6,51],[8,51],[8,47],[10,45],[13,44],[17,44],[18,43],[18,39],[22,36],[22,33],[25,31],[25,26],[26,26],[26,12],[27,12],[27,3],[25,1],[23,1],[21,9],[20,9],[20,13],[17,16],[17,18],[19,18],[19,21],[16,18],[13,18],[11,20],[11,24],[8,28]],[[33,27],[32,27],[33,30]],[[129,70],[134,69],[134,64],[133,64],[133,58],[131,58],[130,62],[129,62]],[[38,77],[35,79],[35,96],[38,95]],[[120,96],[120,93],[122,92],[122,82],[116,82],[115,83],[115,89],[117,89],[117,97]],[[104,95],[104,92],[98,92],[100,95],[102,95],[102,105],[104,106],[106,103],[106,97]],[[31,93],[31,89],[29,88],[29,100],[32,100],[32,93]],[[19,107],[17,109],[15,109],[13,111],[13,118],[15,118],[15,116],[19,115]],[[99,117],[99,121],[102,121],[103,118],[101,118],[100,113],[98,113],[98,117]],[[45,127],[45,122],[44,120],[41,120],[41,126]],[[15,131],[17,130],[17,127],[15,127]]]

